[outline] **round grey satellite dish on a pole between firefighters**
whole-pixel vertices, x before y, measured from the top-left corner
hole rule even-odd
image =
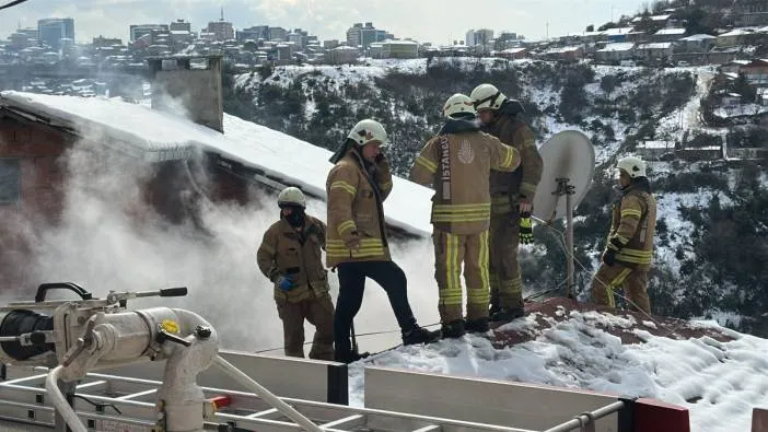
[[[544,171],[536,187],[533,214],[551,222],[568,215],[566,187],[571,190],[572,208],[579,206],[586,195],[595,174],[595,150],[584,133],[563,130],[542,144],[538,152]]]

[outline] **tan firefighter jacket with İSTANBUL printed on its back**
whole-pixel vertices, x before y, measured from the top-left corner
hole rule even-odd
[[[519,165],[520,153],[480,132],[476,121],[451,119],[416,157],[410,178],[434,186],[431,222],[435,229],[468,235],[490,225],[491,170],[512,172]]]

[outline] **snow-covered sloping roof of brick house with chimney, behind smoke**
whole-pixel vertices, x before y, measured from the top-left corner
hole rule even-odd
[[[283,183],[325,199],[333,152],[286,133],[224,114],[224,133],[171,113],[118,100],[0,92],[0,107],[23,109],[81,136],[105,133],[112,145],[148,161],[185,157],[200,149],[261,170]],[[105,142],[107,143],[107,142]],[[433,190],[394,177],[384,202],[386,222],[417,235],[429,235]]]

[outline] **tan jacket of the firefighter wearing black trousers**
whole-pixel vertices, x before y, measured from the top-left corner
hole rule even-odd
[[[328,173],[328,267],[351,261],[389,261],[384,200],[392,191],[389,163],[365,163],[349,147]]]

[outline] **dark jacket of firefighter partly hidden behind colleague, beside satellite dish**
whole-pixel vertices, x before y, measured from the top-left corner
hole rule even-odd
[[[542,155],[536,148],[536,140],[531,128],[516,118],[514,104],[504,102],[499,109],[496,121],[485,129],[504,144],[520,152],[520,168],[513,173],[492,171],[490,176],[490,192],[493,197],[493,214],[517,211],[510,201],[524,198],[534,201],[536,186],[542,179]]]

